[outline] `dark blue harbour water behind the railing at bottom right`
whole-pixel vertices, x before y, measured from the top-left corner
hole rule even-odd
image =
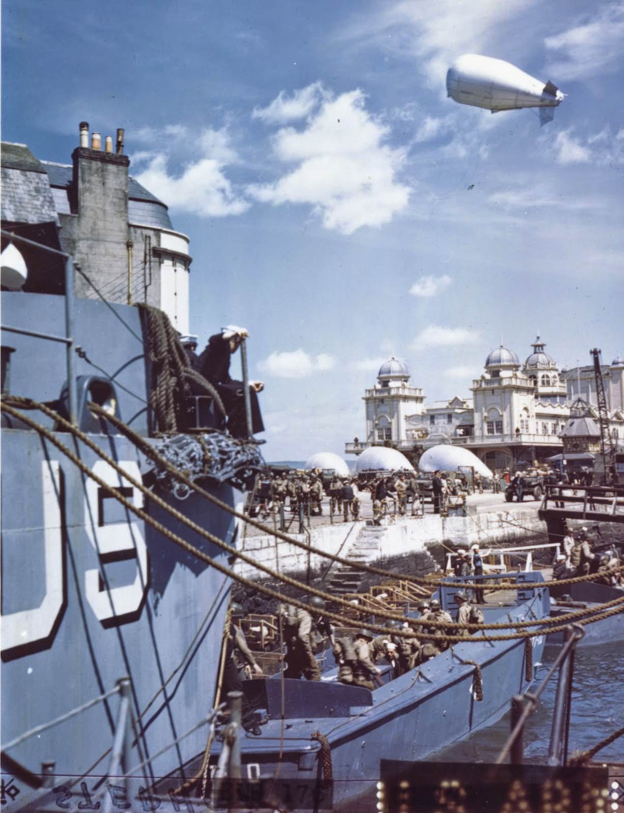
[[[549,647],[543,654],[544,667],[552,665],[559,650]],[[536,685],[546,669],[538,670]],[[579,647],[574,658],[574,689],[569,725],[569,755],[595,746],[608,737],[624,720],[624,643]],[[487,686],[484,686],[487,692]],[[555,702],[556,674],[543,690],[535,711],[526,724],[525,762],[544,764],[552,709]],[[448,746],[428,759],[433,762],[493,763],[509,735],[509,713],[502,720],[483,728],[471,737]],[[624,737],[596,754],[596,762],[624,761]]]

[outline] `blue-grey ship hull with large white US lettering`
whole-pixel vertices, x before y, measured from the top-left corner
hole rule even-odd
[[[64,332],[61,297],[2,293],[2,305],[5,324]],[[114,309],[140,337],[137,310]],[[90,359],[111,374],[118,372],[116,380],[135,393],[132,398],[118,389],[120,411],[129,420],[138,410],[133,428],[145,433],[146,415],[137,402],[137,397],[146,398],[142,344],[111,311],[86,300],[76,302],[75,335]],[[3,341],[8,343],[8,338],[3,333]],[[65,380],[63,349],[13,333],[10,339],[16,348],[11,392],[41,401],[59,398]],[[79,375],[98,375],[85,362],[79,365]],[[51,428],[40,413],[29,414]],[[57,437],[89,468],[143,505],[142,494],[120,482],[92,450],[68,434]],[[146,463],[129,441],[107,434],[89,437],[141,480]],[[229,485],[212,491],[233,505]],[[203,528],[233,542],[236,526],[226,511],[197,495],[183,502],[161,496]],[[185,540],[227,564],[220,548],[164,511],[146,507]],[[133,715],[142,726],[132,763],[155,754],[212,709],[228,602],[229,578],[129,515],[38,433],[2,429],[3,745],[129,676]],[[115,695],[3,750],[2,778],[5,784],[13,780],[11,789],[19,790],[8,798],[7,809],[34,803],[45,761],[55,763],[56,788],[65,785],[80,793],[76,780],[89,772],[86,781],[92,790],[110,763],[110,754],[103,754],[112,745],[118,706]],[[176,770],[180,774],[180,767],[203,751],[206,737],[207,729],[199,728],[151,760],[144,769],[146,778]],[[54,807],[54,795],[50,798]]]

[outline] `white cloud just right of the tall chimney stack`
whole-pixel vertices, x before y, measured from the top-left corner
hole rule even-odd
[[[241,215],[250,207],[225,176],[226,164],[238,160],[227,128],[203,128],[198,137],[190,139],[184,125],[172,124],[162,130],[142,128],[135,137],[138,141],[164,146],[164,150],[133,154],[133,163],[146,164],[134,177],[168,207],[200,217]],[[190,140],[201,157],[182,162],[180,152],[184,152]],[[181,165],[181,172],[170,170],[171,164]]]

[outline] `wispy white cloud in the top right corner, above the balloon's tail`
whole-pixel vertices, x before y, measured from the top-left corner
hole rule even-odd
[[[589,22],[546,37],[544,44],[554,52],[546,66],[553,81],[614,73],[624,56],[624,5],[606,3]]]

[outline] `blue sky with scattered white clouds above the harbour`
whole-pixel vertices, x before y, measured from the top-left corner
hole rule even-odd
[[[81,120],[125,129],[190,236],[200,349],[250,333],[265,459],[364,437],[390,354],[425,403],[469,398],[501,341],[624,354],[623,2],[2,6],[2,138],[70,163]],[[554,120],[447,98],[466,53],[552,80]]]

